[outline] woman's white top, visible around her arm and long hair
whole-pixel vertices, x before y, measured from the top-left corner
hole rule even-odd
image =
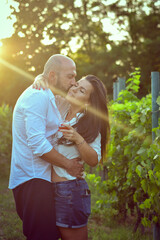
[[[61,113],[62,119],[65,120],[65,117],[67,115],[69,107],[66,105],[66,103],[63,103],[63,101],[64,101],[63,99],[62,100],[56,99],[56,104]],[[78,119],[82,116],[83,116],[83,113],[77,113],[76,117],[72,118],[70,121],[65,122],[65,123],[69,124],[70,126],[73,126],[78,121]],[[63,134],[61,132],[57,132],[56,134],[57,134],[58,139],[63,136]],[[99,134],[92,143],[89,143],[89,145],[96,151],[97,156],[98,156],[98,161],[100,161],[100,159],[101,159],[101,134]],[[68,146],[68,145],[59,144],[55,148],[59,153],[61,153],[68,159],[80,157],[80,153],[79,153],[76,145]],[[64,177],[68,180],[76,179],[76,177],[71,176],[63,168],[60,168],[57,166],[53,166],[53,168],[54,168],[56,174],[60,177]]]

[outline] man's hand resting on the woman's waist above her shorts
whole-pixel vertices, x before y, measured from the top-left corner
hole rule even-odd
[[[68,161],[66,166],[66,171],[76,178],[82,178],[83,176],[84,167],[80,160],[80,158],[73,158]]]

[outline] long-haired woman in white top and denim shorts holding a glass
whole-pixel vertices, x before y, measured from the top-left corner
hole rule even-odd
[[[88,75],[70,88],[66,100],[70,104],[67,108],[64,99],[57,102],[62,118],[67,122],[57,133],[57,150],[68,159],[79,156],[94,167],[105,155],[110,132],[105,87],[96,76]],[[53,166],[52,181],[56,224],[62,239],[87,240],[91,204],[84,176],[75,179],[64,169]]]

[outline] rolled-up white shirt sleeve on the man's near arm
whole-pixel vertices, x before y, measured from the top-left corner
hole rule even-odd
[[[48,104],[48,97],[43,92],[36,91],[29,97],[24,110],[27,143],[38,157],[53,148],[46,139]]]

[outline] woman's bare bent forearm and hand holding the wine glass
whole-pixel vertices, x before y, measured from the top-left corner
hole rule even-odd
[[[80,153],[81,159],[91,167],[95,167],[98,163],[98,154],[97,152],[84,140],[84,138],[76,132],[71,126],[67,126],[68,130],[60,130],[63,133],[63,136],[73,141]]]

